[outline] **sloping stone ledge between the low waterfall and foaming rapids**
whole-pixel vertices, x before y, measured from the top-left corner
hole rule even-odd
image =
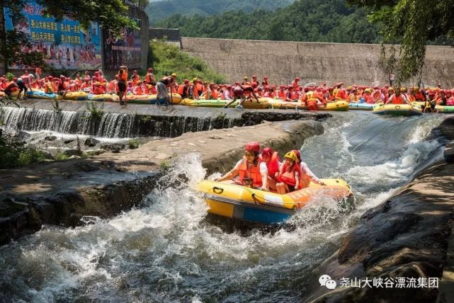
[[[128,105],[121,110],[134,113],[142,108]],[[321,135],[324,129],[317,120],[329,117],[326,113],[293,111],[224,113],[239,115],[245,125],[259,124],[186,132],[181,137],[148,142],[120,153],[0,171],[0,244],[38,231],[42,224],[74,227],[83,216],[110,217],[139,205],[156,187],[160,167],[178,155],[201,154],[209,173],[225,171],[242,156],[246,142],[255,140],[278,151],[294,149],[307,137]]]

